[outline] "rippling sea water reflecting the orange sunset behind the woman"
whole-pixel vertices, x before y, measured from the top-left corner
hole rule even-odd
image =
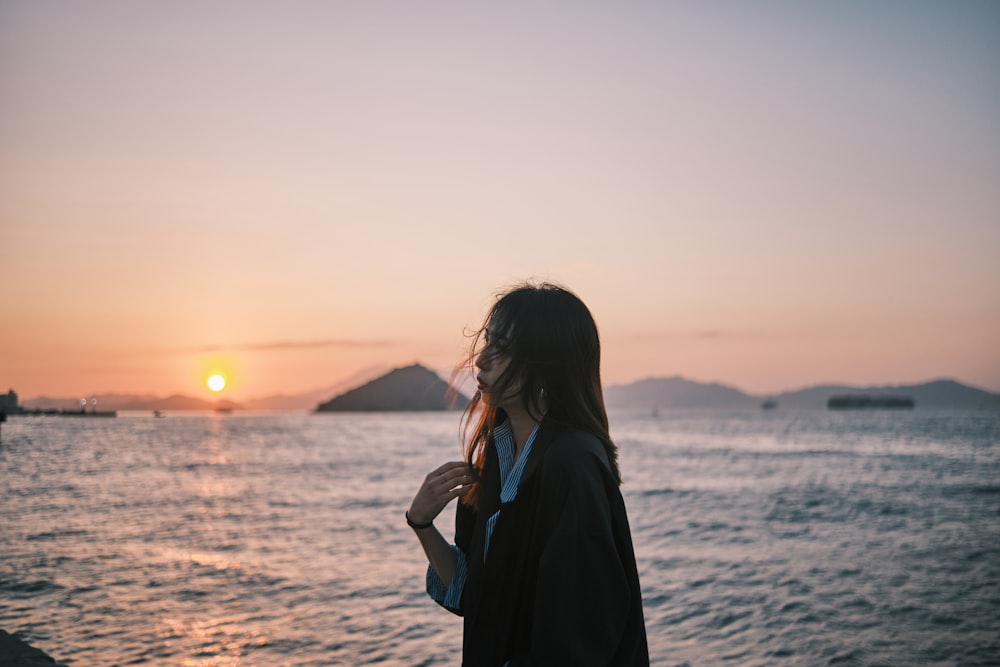
[[[403,510],[457,420],[12,418],[0,628],[73,667],[456,665]],[[1000,665],[1000,413],[611,421],[653,664]]]

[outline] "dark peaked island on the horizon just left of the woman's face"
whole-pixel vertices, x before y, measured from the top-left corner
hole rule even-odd
[[[464,408],[469,399],[452,401],[448,383],[419,364],[397,368],[316,407],[317,412],[424,411]]]

